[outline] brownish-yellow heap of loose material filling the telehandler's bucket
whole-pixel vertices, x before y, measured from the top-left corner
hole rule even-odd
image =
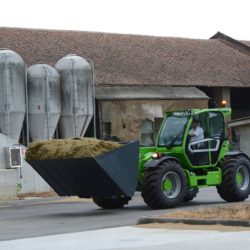
[[[103,141],[95,138],[39,141],[30,144],[26,151],[26,160],[95,157],[119,147],[121,145],[117,142]]]

